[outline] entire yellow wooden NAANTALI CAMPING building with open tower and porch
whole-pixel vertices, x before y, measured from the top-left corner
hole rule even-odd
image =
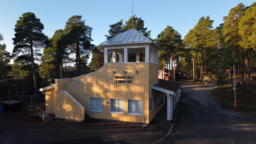
[[[145,117],[149,123],[167,102],[167,120],[171,120],[181,84],[158,79],[161,48],[133,28],[100,46],[105,52],[100,69],[56,79],[55,85],[40,89],[46,94],[46,113],[76,121],[83,121],[85,113],[91,118],[138,123]],[[113,52],[112,62],[109,51]],[[128,62],[129,54],[136,55],[136,61]]]

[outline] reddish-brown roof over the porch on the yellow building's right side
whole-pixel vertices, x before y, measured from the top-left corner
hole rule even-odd
[[[158,79],[159,84],[154,85],[156,87],[160,87],[162,89],[177,91],[181,87],[181,83]]]

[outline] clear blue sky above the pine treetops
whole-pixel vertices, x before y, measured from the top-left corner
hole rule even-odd
[[[242,2],[250,6],[256,0],[0,0],[0,33],[12,52],[16,21],[25,12],[33,12],[44,25],[43,33],[49,38],[73,15],[81,15],[85,24],[92,27],[92,44],[106,41],[109,25],[127,21],[133,15],[142,17],[144,27],[151,30],[151,38],[167,27],[172,26],[182,37],[197,24],[200,17],[209,15],[214,20],[213,27],[223,23],[231,8]]]

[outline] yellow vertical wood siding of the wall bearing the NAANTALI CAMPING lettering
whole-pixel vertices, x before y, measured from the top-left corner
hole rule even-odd
[[[115,74],[112,74],[115,71]],[[126,71],[126,74],[123,74]],[[138,74],[135,74],[138,71]],[[133,79],[116,79],[116,76],[131,76]],[[58,90],[69,92],[82,106],[85,112],[92,118],[111,119],[117,121],[144,122],[149,123],[149,89],[151,82],[157,82],[157,65],[151,63],[105,63],[101,69],[88,77],[80,84],[65,82],[80,82],[83,78],[73,80],[55,81],[55,101],[63,101],[63,96],[57,93]],[[132,83],[116,83],[116,80],[132,80]],[[149,87],[150,86],[150,87]],[[117,96],[117,97],[116,97]],[[89,97],[102,98],[102,112],[89,112]],[[110,98],[124,99],[124,114],[110,113]],[[128,99],[143,100],[143,116],[128,115]],[[107,102],[105,104],[105,101]],[[64,117],[61,106],[55,105],[57,117]]]

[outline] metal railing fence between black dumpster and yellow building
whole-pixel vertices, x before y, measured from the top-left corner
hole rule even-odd
[[[9,100],[14,101],[22,101],[23,103],[37,103],[37,102],[45,102],[45,95],[42,92],[41,94],[35,95],[35,90],[33,91],[23,91],[9,94]]]

